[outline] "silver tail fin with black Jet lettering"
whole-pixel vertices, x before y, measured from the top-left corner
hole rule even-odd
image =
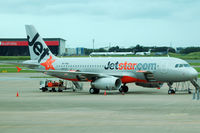
[[[40,63],[49,57],[56,58],[33,25],[25,25],[25,29],[31,60],[38,60],[38,63]]]

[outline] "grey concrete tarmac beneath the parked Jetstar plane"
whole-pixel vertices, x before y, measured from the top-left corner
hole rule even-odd
[[[41,92],[38,73],[0,74],[0,133],[199,133],[200,101],[168,87]],[[19,97],[16,97],[17,92]]]

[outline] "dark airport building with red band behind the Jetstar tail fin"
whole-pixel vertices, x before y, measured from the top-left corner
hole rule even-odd
[[[65,54],[65,40],[62,38],[44,38],[45,43],[56,56]],[[29,56],[26,38],[0,38],[0,56]]]

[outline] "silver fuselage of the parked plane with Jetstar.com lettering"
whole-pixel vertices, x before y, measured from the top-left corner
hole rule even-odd
[[[43,62],[43,61],[41,61]],[[172,57],[87,57],[56,58],[55,70],[94,72],[119,76],[123,83],[148,82],[145,73],[152,73],[156,82],[188,81],[197,75],[194,68],[181,59]],[[44,69],[43,66],[40,66]],[[78,81],[74,75],[53,75]],[[126,77],[123,80],[123,77]]]

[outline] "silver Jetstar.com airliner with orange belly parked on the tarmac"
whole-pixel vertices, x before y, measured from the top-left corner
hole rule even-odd
[[[65,80],[91,82],[91,94],[98,94],[100,90],[128,92],[127,83],[155,88],[168,83],[168,93],[171,93],[173,82],[195,82],[198,76],[186,61],[171,57],[58,58],[34,26],[25,28],[31,60],[22,65]]]

